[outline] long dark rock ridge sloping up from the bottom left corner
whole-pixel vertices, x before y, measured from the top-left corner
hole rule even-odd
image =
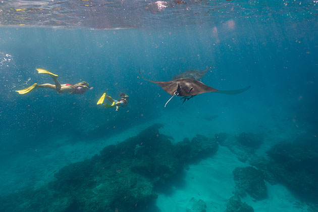
[[[146,209],[157,198],[156,187],[169,186],[185,166],[213,155],[219,148],[216,139],[202,135],[173,144],[171,137],[159,133],[162,126],[153,125],[137,136],[105,147],[90,160],[62,168],[55,174],[56,180],[43,187],[0,197],[0,211]]]

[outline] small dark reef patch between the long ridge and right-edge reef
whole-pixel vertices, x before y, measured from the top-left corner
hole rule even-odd
[[[263,142],[262,135],[246,132],[242,132],[238,136],[228,136],[226,133],[220,133],[216,135],[216,138],[220,145],[228,147],[243,163],[255,156],[255,150]]]

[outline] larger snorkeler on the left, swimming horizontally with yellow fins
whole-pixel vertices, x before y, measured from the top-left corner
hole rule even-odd
[[[59,94],[61,93],[73,93],[73,94],[83,94],[85,91],[89,89],[89,85],[87,82],[79,82],[75,85],[72,84],[60,84],[58,81],[58,75],[53,74],[49,71],[46,71],[44,69],[36,69],[39,74],[48,74],[52,77],[52,79],[55,82],[55,85],[45,83],[38,85],[37,83],[34,83],[30,87],[24,88],[22,90],[16,90],[19,94],[26,94],[31,92],[34,88],[51,88],[53,90],[56,90]]]

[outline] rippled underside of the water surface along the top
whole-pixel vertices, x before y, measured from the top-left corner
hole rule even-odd
[[[0,26],[162,28],[211,24],[235,19],[308,20],[317,17],[315,1],[240,2],[208,0],[0,1]]]

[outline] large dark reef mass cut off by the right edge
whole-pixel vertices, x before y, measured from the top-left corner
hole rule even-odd
[[[301,135],[293,142],[274,145],[269,158],[257,158],[251,164],[263,170],[269,182],[281,183],[303,200],[317,202],[318,138]]]

